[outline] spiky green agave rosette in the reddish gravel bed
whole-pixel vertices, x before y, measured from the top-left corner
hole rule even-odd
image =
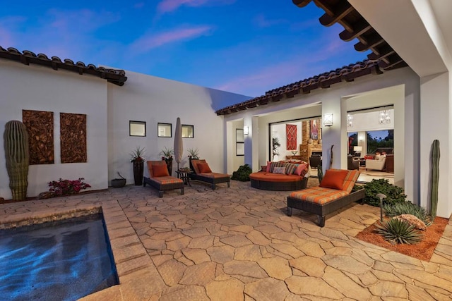
[[[400,221],[400,219],[389,219],[381,226],[377,226],[376,231],[389,242],[412,245],[422,240],[422,235],[416,231],[414,226],[406,221]]]

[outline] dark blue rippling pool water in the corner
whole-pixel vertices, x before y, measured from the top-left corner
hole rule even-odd
[[[77,300],[118,283],[102,214],[0,231],[1,300]]]

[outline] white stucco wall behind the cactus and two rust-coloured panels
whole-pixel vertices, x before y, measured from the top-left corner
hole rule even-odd
[[[0,59],[0,128],[22,121],[22,110],[54,112],[54,164],[31,165],[28,197],[49,190],[59,178],[85,178],[90,190],[107,188],[107,81],[43,66],[25,66]],[[88,162],[61,164],[59,113],[87,115]],[[4,140],[0,140],[0,197],[11,199]]]

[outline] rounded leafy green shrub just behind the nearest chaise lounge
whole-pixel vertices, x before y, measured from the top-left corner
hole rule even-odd
[[[379,193],[386,195],[386,199],[384,199],[385,204],[405,202],[407,197],[403,194],[402,188],[389,183],[386,179],[373,179],[364,185],[364,189],[366,190],[364,203],[375,207],[380,206],[380,199],[376,197]]]

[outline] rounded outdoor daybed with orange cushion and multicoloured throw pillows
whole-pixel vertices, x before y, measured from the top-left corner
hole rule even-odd
[[[265,169],[265,171],[264,171]],[[251,173],[251,187],[262,190],[300,190],[308,183],[308,164],[304,161],[268,162],[263,170]]]

